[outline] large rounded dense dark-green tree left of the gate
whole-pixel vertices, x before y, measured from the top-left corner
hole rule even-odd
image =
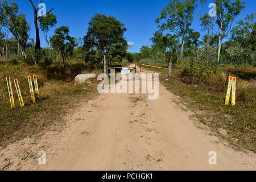
[[[101,65],[104,55],[110,62],[122,61],[128,47],[123,38],[125,31],[124,24],[114,16],[94,15],[84,36],[86,59],[94,65]]]

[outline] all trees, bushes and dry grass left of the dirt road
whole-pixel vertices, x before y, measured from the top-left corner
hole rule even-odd
[[[120,64],[127,53],[125,24],[114,16],[92,15],[84,38],[74,38],[68,26],[55,27],[54,7],[39,16],[38,2],[26,1],[33,10],[31,24],[20,13],[18,3],[0,0],[0,149],[49,129],[56,122],[64,123],[69,109],[97,96],[96,79],[77,85],[74,78],[81,73],[100,72],[104,57],[108,64]],[[29,36],[31,28],[35,28],[35,39]],[[54,33],[49,35],[52,28]],[[44,48],[40,34],[44,35]],[[38,77],[40,96],[35,104],[30,99],[29,75]],[[24,107],[20,108],[12,84],[15,108],[11,109],[6,77],[11,82],[18,79]]]

